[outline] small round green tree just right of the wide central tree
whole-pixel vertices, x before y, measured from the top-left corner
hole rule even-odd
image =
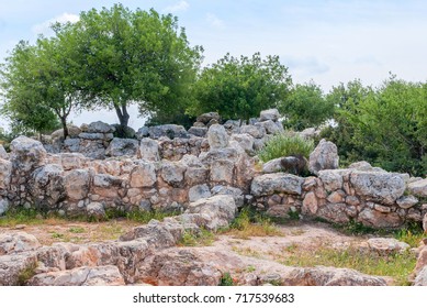
[[[334,116],[334,102],[326,100],[321,87],[313,81],[295,85],[285,101],[279,106],[285,128],[302,131],[318,127]]]

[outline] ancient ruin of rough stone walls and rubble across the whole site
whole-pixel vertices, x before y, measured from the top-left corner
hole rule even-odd
[[[136,139],[114,138],[114,127],[94,122],[71,128],[65,141],[55,132],[44,143],[20,136],[10,153],[0,146],[0,216],[14,207],[97,219],[111,209],[180,212],[101,243],[41,246],[24,232],[0,234],[0,285],[19,284],[29,267],[35,268],[29,285],[218,285],[225,264],[238,260],[222,262],[221,252],[207,257],[176,245],[189,230],[227,227],[244,205],[273,217],[357,221],[378,229],[417,222],[427,229],[427,179],[367,162],[340,169],[335,144],[325,140],[310,156],[315,176],[284,173],[279,161],[260,166],[255,154],[283,132],[279,118],[277,110],[267,110],[249,124],[220,124],[211,112],[188,131],[144,127]],[[427,285],[426,256],[425,246],[416,285]],[[267,276],[244,284],[268,283]],[[282,285],[386,285],[346,268],[283,266],[276,277]]]

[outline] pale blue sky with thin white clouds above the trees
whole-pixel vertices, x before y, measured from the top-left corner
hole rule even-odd
[[[54,21],[75,22],[81,11],[119,1],[0,0],[0,62],[20,40],[49,35]],[[324,91],[360,78],[378,86],[389,73],[408,81],[427,80],[427,1],[424,0],[123,0],[130,9],[154,8],[178,16],[191,45],[204,48],[204,65],[226,53],[279,55],[293,82],[310,80]],[[144,119],[131,111],[131,125]],[[113,112],[72,114],[76,124],[94,117],[117,122]],[[2,120],[0,120],[2,121]],[[4,121],[0,127],[4,127]]]

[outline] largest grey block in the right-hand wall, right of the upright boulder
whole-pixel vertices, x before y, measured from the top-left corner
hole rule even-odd
[[[393,205],[405,193],[406,184],[398,174],[359,172],[350,175],[356,194],[368,200]]]

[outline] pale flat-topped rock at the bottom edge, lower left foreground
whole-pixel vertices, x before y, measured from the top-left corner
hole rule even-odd
[[[31,286],[123,286],[123,276],[113,265],[78,267],[69,271],[38,274],[29,282]]]

